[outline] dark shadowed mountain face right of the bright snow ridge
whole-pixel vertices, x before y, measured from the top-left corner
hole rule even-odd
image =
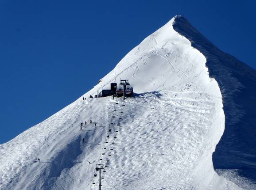
[[[256,184],[256,71],[223,53],[184,17],[175,19],[174,29],[204,54],[209,74],[221,89],[225,132],[213,154],[214,167],[221,168],[221,173],[236,169],[233,172]]]

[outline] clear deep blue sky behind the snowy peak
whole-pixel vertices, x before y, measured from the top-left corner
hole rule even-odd
[[[256,3],[1,0],[0,144],[91,89],[175,15],[256,68]]]

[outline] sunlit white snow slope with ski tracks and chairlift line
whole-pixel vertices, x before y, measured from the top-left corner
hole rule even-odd
[[[212,154],[225,129],[221,90],[209,77],[206,57],[174,30],[178,18],[132,49],[85,94],[121,78],[129,79],[133,97],[79,98],[1,144],[0,189],[97,189],[95,164],[107,166],[104,190],[244,188],[241,180],[230,178],[235,184],[213,169]],[[93,124],[80,131],[89,119]]]

